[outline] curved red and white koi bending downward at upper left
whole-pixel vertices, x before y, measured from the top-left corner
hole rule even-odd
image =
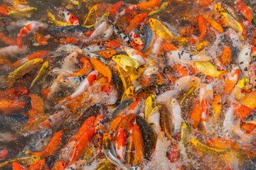
[[[35,21],[21,28],[21,31],[20,33],[18,33],[18,38],[17,38],[18,47],[19,48],[22,47],[21,38],[26,37],[28,34],[31,34],[31,33],[35,34],[39,28],[46,28],[46,24]]]

